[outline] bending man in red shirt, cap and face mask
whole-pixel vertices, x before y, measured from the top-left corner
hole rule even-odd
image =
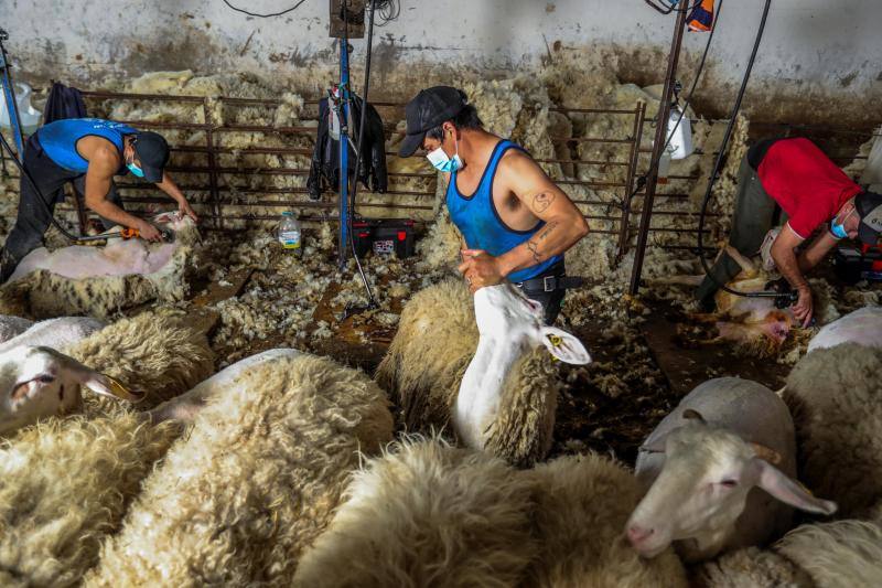
[[[772,245],[772,259],[781,275],[799,295],[793,306],[797,320],[811,321],[811,289],[805,274],[833,248],[840,238],[860,238],[875,245],[882,231],[882,195],[864,192],[808,139],[766,139],[754,145],[741,162],[735,212],[729,244],[745,256],[756,255],[775,224],[776,209],[786,220]],[[827,225],[806,247],[804,240]],[[725,253],[704,278],[696,298],[713,309],[719,284],[734,278],[741,268]]]

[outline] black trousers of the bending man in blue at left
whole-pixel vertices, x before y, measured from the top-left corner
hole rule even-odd
[[[74,190],[79,194],[86,193],[86,174],[65,170],[43,151],[36,135],[28,139],[24,148],[24,169],[31,179],[36,183],[40,192],[22,174],[20,180],[19,213],[15,218],[15,226],[7,237],[2,254],[2,272],[0,281],[4,281],[14,270],[14,266],[32,250],[40,247],[43,243],[43,235],[46,233],[51,223],[55,205],[64,202],[64,185],[73,182]],[[40,193],[43,194],[45,203],[40,201]],[[122,201],[119,197],[116,184],[110,183],[110,192],[107,199],[119,207]],[[107,218],[101,218],[105,228],[110,228],[115,223]],[[12,269],[8,266],[12,265]]]

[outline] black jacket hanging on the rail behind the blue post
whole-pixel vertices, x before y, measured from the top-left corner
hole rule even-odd
[[[349,137],[358,145],[358,125],[362,121],[362,98],[353,95]],[[329,105],[327,98],[319,101],[319,133],[315,138],[315,149],[312,152],[310,177],[306,180],[312,200],[319,200],[322,192],[333,190],[340,192],[340,141],[334,140],[329,132]],[[365,138],[362,142],[362,162],[357,180],[372,192],[384,193],[388,188],[386,177],[386,133],[383,129],[383,119],[370,103],[367,104],[365,118]],[[355,150],[349,145],[349,173],[355,170]]]

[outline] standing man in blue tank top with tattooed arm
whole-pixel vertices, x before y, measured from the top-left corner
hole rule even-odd
[[[519,146],[484,130],[462,90],[435,86],[406,107],[400,157],[417,149],[448,180],[450,217],[465,238],[460,271],[472,292],[509,280],[541,302],[547,323],[560,312],[568,278],[563,253],[588,234],[579,209]]]

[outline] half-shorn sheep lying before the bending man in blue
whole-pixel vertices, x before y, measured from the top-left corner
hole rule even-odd
[[[89,314],[106,318],[154,298],[175,301],[186,293],[198,232],[189,217],[163,213],[153,218],[174,234],[173,243],[109,239],[105,247],[72,245],[28,254],[0,288],[3,306],[24,297],[40,318]]]

